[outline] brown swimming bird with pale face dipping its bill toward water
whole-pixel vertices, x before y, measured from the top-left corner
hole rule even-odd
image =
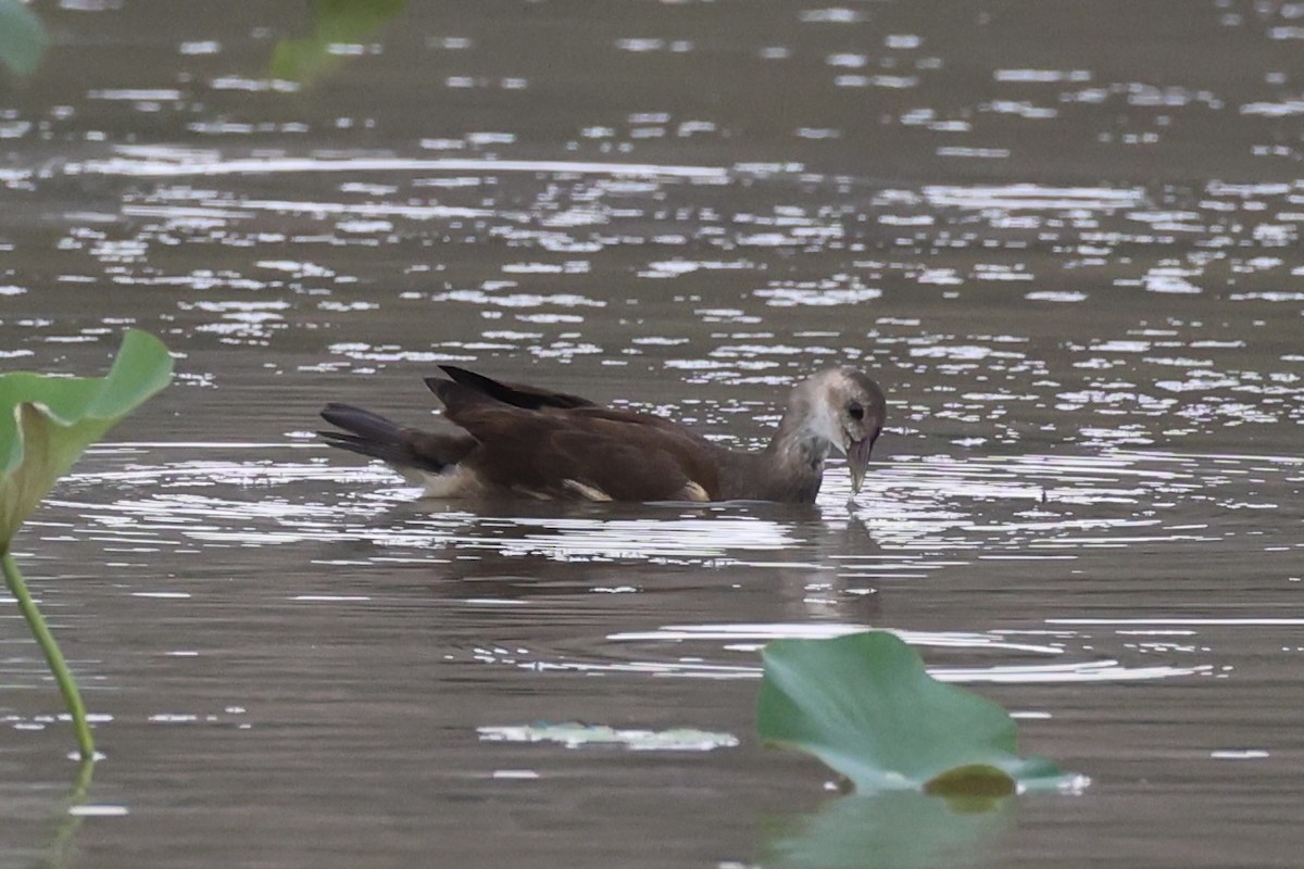
[[[318,435],[387,463],[430,498],[808,504],[832,452],[846,456],[852,491],[861,490],[887,413],[868,375],[829,369],[794,386],[769,444],[745,452],[665,417],[439,367],[446,378],[425,383],[451,426],[409,429],[331,403],[321,416],[342,431]]]

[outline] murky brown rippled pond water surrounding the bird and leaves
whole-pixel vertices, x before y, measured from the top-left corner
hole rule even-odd
[[[1299,4],[413,4],[304,89],[297,5],[40,12],[0,360],[181,358],[20,541],[107,760],[67,814],[0,608],[0,864],[1297,865]],[[421,506],[308,434],[445,361],[733,443],[853,362],[892,429],[852,509]],[[849,625],[1093,784],[831,860],[751,706]],[[492,730],[567,720],[739,744]]]

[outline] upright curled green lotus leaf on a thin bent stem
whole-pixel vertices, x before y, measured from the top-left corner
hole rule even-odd
[[[30,371],[0,375],[0,567],[33,637],[59,683],[83,758],[95,744],[77,683],[27,593],[10,545],[40,499],[90,444],[172,379],[172,357],[147,332],[129,331],[108,374],[64,378]]]

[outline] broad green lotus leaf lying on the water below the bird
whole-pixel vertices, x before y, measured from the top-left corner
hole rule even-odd
[[[1004,709],[930,676],[892,633],[777,640],[763,659],[760,737],[814,754],[861,792],[994,797],[1081,780],[1018,757]]]

